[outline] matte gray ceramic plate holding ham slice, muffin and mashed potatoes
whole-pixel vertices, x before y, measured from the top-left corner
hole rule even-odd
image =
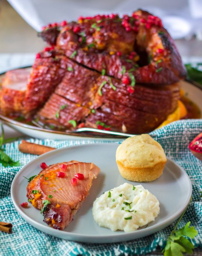
[[[137,239],[155,233],[175,221],[189,204],[192,194],[191,181],[186,172],[172,160],[168,159],[166,167],[160,178],[149,183],[136,183],[127,181],[119,174],[115,152],[118,144],[89,144],[54,150],[41,155],[25,165],[13,180],[11,185],[11,198],[18,213],[37,229],[63,239],[88,243],[109,243]],[[28,209],[20,206],[27,201],[27,180],[23,178],[38,174],[40,163],[47,165],[69,160],[93,162],[100,167],[100,174],[93,181],[90,194],[83,202],[74,220],[63,231],[55,230],[43,222],[40,211],[30,205]],[[93,201],[104,191],[117,187],[125,182],[134,185],[142,184],[153,193],[160,202],[160,214],[148,227],[135,232],[112,232],[99,227],[93,220]]]

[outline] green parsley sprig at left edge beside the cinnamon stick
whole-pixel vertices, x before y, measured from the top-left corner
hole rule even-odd
[[[20,166],[20,162],[17,161],[15,162],[12,158],[9,157],[9,155],[7,155],[3,148],[1,148],[3,143],[9,142],[9,140],[4,139],[4,129],[3,129],[3,125],[0,124],[1,126],[1,137],[0,137],[0,163],[4,166],[4,167],[13,167],[13,166]]]

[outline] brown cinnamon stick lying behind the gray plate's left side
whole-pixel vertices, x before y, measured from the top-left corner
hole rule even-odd
[[[33,155],[42,155],[46,152],[55,150],[56,148],[47,147],[44,145],[39,145],[36,143],[31,143],[25,140],[19,144],[19,150],[23,153],[33,154]]]

